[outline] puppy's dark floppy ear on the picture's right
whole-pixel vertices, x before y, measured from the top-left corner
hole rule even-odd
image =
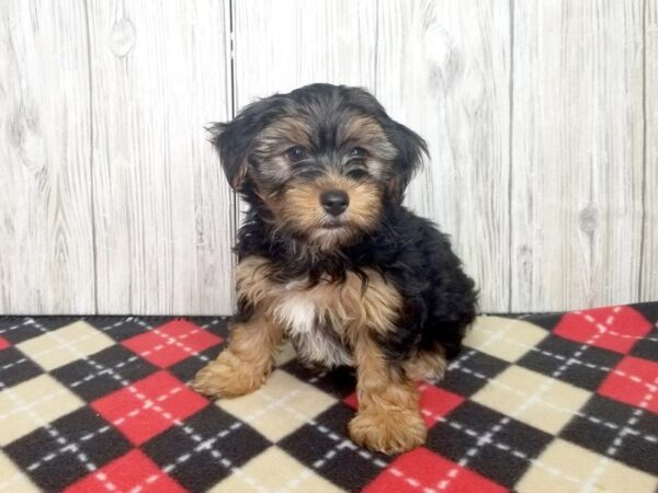
[[[384,130],[397,150],[396,175],[390,181],[389,193],[394,199],[402,202],[407,185],[421,168],[424,158],[429,157],[428,145],[413,130],[393,119],[384,125]]]

